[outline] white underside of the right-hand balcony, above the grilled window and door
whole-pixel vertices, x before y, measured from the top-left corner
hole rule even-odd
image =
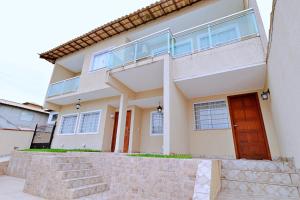
[[[174,80],[188,98],[262,89],[266,64],[235,68],[214,74]]]

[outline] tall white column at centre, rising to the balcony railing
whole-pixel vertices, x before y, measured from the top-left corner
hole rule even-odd
[[[164,136],[163,153],[170,154],[170,84],[172,81],[170,69],[170,57],[164,58],[163,70],[163,99],[164,99]]]

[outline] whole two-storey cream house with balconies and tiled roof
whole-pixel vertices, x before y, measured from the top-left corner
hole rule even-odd
[[[280,157],[266,49],[254,0],[159,1],[105,24],[41,54],[52,147]]]

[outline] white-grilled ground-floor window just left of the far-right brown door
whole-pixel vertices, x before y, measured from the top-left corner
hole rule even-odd
[[[226,102],[214,101],[194,104],[195,130],[229,128]]]

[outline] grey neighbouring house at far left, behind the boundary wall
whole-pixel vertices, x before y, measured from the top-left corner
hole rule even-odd
[[[0,129],[34,130],[36,124],[47,125],[48,115],[40,105],[0,99]]]

